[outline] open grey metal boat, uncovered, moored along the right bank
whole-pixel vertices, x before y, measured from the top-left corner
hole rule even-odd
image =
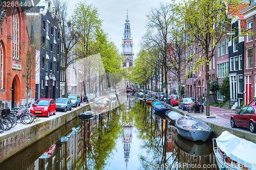
[[[175,122],[175,126],[179,135],[192,141],[206,141],[212,131],[204,122],[188,116],[178,118]]]

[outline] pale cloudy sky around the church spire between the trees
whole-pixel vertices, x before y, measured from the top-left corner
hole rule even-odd
[[[75,4],[79,0],[69,0],[69,13],[72,14]],[[122,52],[122,37],[124,32],[124,23],[127,9],[131,23],[131,33],[133,37],[133,51],[136,54],[140,50],[140,40],[146,32],[146,15],[150,13],[151,8],[158,8],[160,3],[169,3],[170,0],[87,0],[86,4],[92,4],[98,9],[99,18],[103,20],[102,28],[108,33],[111,41]]]

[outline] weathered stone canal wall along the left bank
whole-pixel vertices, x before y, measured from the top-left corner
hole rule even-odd
[[[72,110],[71,112],[57,112],[56,115],[51,115],[49,118],[38,122],[36,122],[37,119],[35,119],[35,122],[29,125],[20,126],[17,124],[11,130],[0,134],[0,163],[27,148],[42,137],[62,127],[67,122],[70,122],[76,118],[79,113],[89,109],[90,105],[88,104]]]

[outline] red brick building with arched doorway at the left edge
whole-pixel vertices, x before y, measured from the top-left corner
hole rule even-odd
[[[9,0],[15,2],[14,0]],[[6,107],[26,103],[25,67],[29,36],[26,27],[26,10],[21,6],[5,7],[1,1],[0,20],[0,100]],[[35,77],[31,75],[29,102],[35,97]],[[3,106],[0,106],[3,108]]]

